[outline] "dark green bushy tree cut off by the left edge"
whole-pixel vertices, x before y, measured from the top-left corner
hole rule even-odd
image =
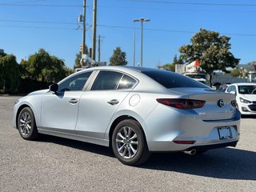
[[[19,66],[13,54],[0,56],[0,89],[16,93],[19,86]]]

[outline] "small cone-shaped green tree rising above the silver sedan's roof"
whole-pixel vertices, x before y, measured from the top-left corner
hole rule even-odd
[[[126,52],[123,52],[121,48],[118,46],[114,52],[112,57],[110,58],[110,66],[126,66]]]

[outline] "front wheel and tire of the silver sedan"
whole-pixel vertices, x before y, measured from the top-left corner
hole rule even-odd
[[[34,113],[30,107],[25,107],[18,114],[18,132],[26,140],[38,138],[38,128],[35,124]]]

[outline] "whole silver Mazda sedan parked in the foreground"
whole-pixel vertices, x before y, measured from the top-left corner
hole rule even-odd
[[[182,74],[102,66],[18,99],[13,125],[27,140],[50,134],[109,146],[136,166],[153,152],[236,146],[240,112],[234,95]]]

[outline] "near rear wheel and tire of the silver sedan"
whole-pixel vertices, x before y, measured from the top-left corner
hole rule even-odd
[[[150,158],[142,126],[134,120],[118,123],[111,144],[115,157],[125,165],[138,166]]]

